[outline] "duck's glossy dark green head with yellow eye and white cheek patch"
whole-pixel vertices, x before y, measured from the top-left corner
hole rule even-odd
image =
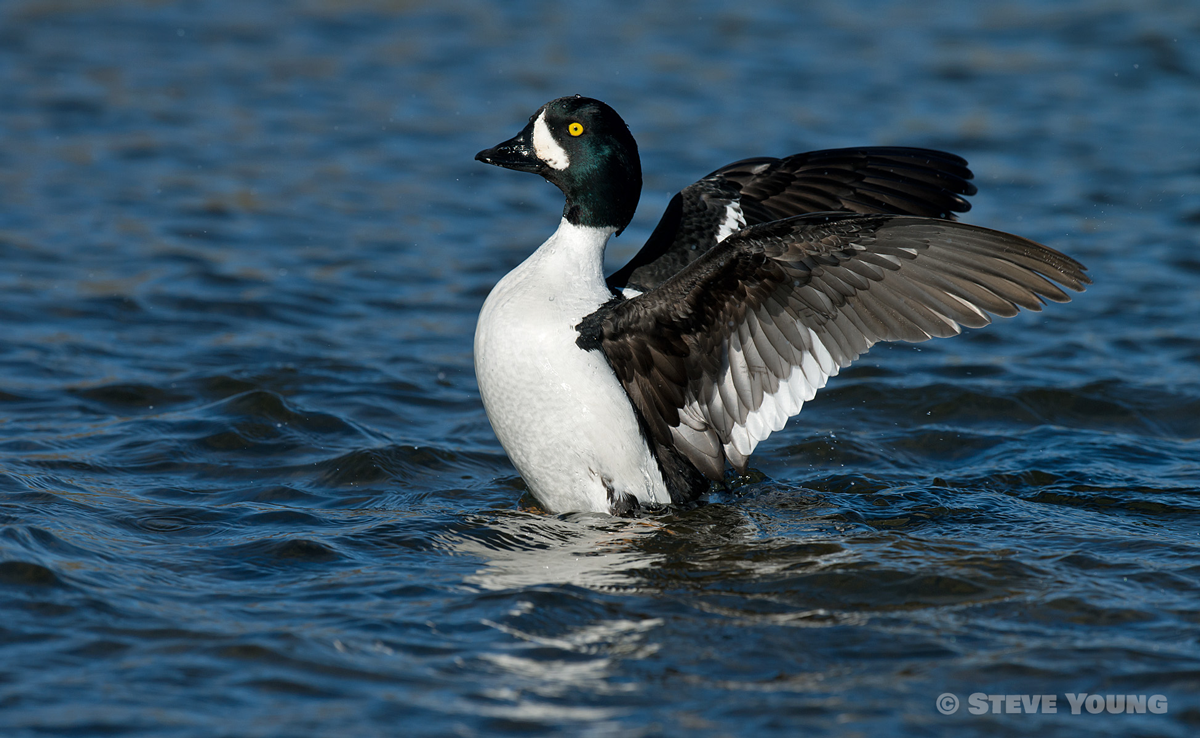
[[[576,226],[613,228],[619,234],[634,218],[642,194],[642,163],[629,126],[590,97],[547,102],[516,137],[475,158],[542,175],[566,196],[563,217]]]

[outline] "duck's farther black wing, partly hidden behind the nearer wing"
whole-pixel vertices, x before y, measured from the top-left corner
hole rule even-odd
[[[685,187],[608,287],[647,292],[732,233],[805,212],[841,210],[953,220],[976,193],[966,160],[905,146],[748,158]]]

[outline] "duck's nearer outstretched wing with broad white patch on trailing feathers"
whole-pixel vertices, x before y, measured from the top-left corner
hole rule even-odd
[[[592,325],[655,440],[720,480],[726,460],[744,472],[758,442],[876,342],[1066,302],[1058,284],[1082,290],[1084,271],[1040,244],[953,221],[804,215],[730,236]]]

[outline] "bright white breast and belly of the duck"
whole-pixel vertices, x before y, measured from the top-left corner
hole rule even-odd
[[[611,296],[611,230],[565,220],[492,289],[475,330],[475,374],[500,445],[550,511],[610,511],[608,490],[641,503],[670,494],[632,406],[576,325]]]

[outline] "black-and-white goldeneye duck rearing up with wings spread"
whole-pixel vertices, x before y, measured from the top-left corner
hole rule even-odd
[[[980,328],[1081,292],[1079,262],[954,221],[966,162],[911,148],[749,158],[679,192],[607,280],[641,196],[607,104],[560,97],[476,160],[563,191],[558,229],[475,331],[487,418],[551,512],[688,504],[878,341]],[[1056,284],[1057,283],[1057,284]]]

